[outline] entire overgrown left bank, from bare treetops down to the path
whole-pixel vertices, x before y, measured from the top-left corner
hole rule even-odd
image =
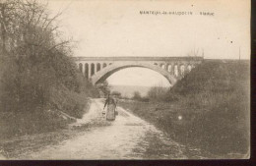
[[[91,83],[71,60],[72,41],[64,39],[47,6],[36,1],[0,3],[1,137],[55,130],[67,122],[60,111],[84,114]]]

